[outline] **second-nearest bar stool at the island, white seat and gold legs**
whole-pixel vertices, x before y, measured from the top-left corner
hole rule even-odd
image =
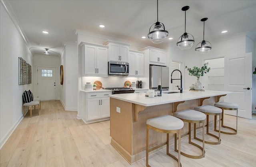
[[[204,128],[203,128],[203,147],[201,147],[200,145],[193,143],[191,141],[191,123],[194,123],[194,138],[196,136],[196,124],[197,123],[203,123],[203,127],[204,127],[204,122],[205,122],[205,118],[206,115],[202,112],[199,111],[195,111],[195,110],[184,110],[184,111],[180,111],[180,112],[175,112],[174,116],[176,116],[177,118],[180,118],[183,122],[188,122],[188,143],[200,148],[202,150],[202,155],[190,155],[190,154],[186,154],[182,151],[180,151],[180,149],[177,150],[177,135],[174,134],[174,147],[175,147],[175,151],[180,151],[181,155],[184,155],[186,157],[189,158],[194,158],[194,159],[200,159],[203,158],[205,156],[205,151],[204,151]],[[180,139],[180,137],[179,137]]]

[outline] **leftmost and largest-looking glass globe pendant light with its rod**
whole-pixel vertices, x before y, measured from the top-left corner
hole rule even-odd
[[[158,0],[157,0],[157,22],[149,28],[148,38],[153,43],[162,43],[168,36],[168,31],[165,30],[164,24],[158,22]]]

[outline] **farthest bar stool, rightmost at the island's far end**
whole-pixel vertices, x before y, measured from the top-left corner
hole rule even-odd
[[[238,105],[235,103],[230,103],[230,102],[218,102],[215,103],[214,106],[221,108],[222,109],[222,114],[221,114],[221,127],[223,128],[228,128],[230,130],[233,130],[234,132],[224,132],[224,131],[220,131],[220,133],[223,134],[229,134],[229,135],[235,135],[237,134],[237,116],[238,116]],[[236,129],[228,127],[228,126],[224,126],[224,110],[236,110]],[[220,128],[220,127],[219,127]],[[217,131],[217,130],[215,130]]]

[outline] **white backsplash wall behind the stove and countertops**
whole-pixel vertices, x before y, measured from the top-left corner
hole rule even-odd
[[[90,82],[93,84],[95,81],[100,81],[102,83],[103,88],[111,88],[111,87],[124,87],[125,81],[135,82],[137,80],[142,80],[145,78],[137,78],[137,77],[123,77],[123,76],[108,76],[108,77],[82,77],[82,89],[85,89],[85,84]]]

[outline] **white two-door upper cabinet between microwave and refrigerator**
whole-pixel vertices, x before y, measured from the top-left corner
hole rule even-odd
[[[129,76],[144,76],[144,52],[129,51]]]

